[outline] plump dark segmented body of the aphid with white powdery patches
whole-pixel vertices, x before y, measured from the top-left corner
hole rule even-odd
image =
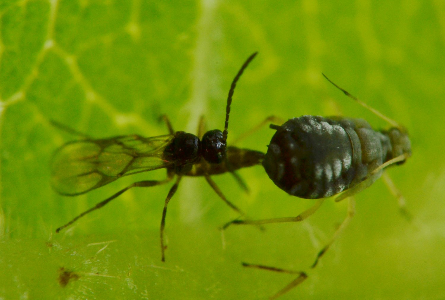
[[[323,198],[362,181],[390,150],[388,136],[363,119],[304,115],[276,127],[263,167],[285,192]]]

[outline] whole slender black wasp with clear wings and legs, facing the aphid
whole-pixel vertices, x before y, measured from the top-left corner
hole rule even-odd
[[[52,185],[62,195],[76,196],[87,193],[120,177],[136,173],[160,168],[166,168],[167,170],[167,178],[165,180],[134,182],[104,201],[97,203],[97,205],[73,218],[65,225],[57,228],[56,232],[73,224],[73,222],[76,222],[77,219],[85,216],[85,214],[101,208],[128,189],[162,185],[172,180],[175,176],[177,177],[176,182],[170,188],[162,211],[160,227],[162,261],[165,260],[164,251],[166,249],[163,234],[167,204],[176,192],[182,176],[205,177],[212,189],[231,209],[245,216],[238,207],[226,199],[210,175],[229,172],[235,176],[235,179],[240,184],[243,184],[235,174],[235,171],[239,168],[260,164],[264,158],[263,152],[227,147],[227,128],[232,95],[241,74],[255,58],[256,54],[255,52],[247,58],[231,83],[227,97],[226,120],[223,131],[215,129],[202,134],[204,124],[203,119],[201,119],[198,127],[198,136],[182,131],[174,132],[170,121],[164,116],[170,131],[168,135],[155,137],[129,135],[93,139],[57,122],[53,122],[57,127],[83,137],[82,140],[66,143],[54,153],[51,165]]]

